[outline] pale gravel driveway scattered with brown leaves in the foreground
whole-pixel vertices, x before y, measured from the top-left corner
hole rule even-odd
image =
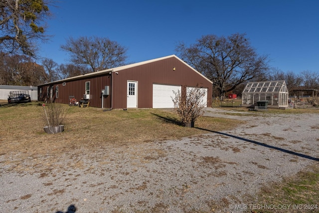
[[[247,123],[181,140],[75,150],[54,167],[46,156],[30,157],[18,172],[2,155],[0,212],[232,212],[263,184],[319,165],[319,114],[233,113],[205,115]],[[34,161],[47,167],[31,168]]]

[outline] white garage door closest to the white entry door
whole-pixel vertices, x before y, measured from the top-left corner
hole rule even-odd
[[[173,91],[181,91],[181,86],[153,84],[153,108],[174,108]]]

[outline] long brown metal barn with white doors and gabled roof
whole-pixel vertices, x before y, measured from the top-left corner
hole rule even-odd
[[[212,82],[170,55],[38,85],[38,100],[68,104],[74,96],[88,98],[92,107],[172,108],[173,91],[185,93],[197,85],[206,90],[204,100],[211,106]]]

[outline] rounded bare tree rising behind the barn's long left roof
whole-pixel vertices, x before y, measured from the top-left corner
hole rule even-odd
[[[108,38],[70,37],[61,48],[70,53],[72,63],[89,66],[93,72],[124,65],[127,59],[127,49]]]

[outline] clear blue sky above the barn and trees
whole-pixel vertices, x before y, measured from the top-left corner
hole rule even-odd
[[[51,7],[40,55],[68,63],[72,36],[108,37],[128,48],[127,62],[171,54],[207,34],[246,33],[260,55],[284,72],[319,72],[318,0],[59,0]]]

